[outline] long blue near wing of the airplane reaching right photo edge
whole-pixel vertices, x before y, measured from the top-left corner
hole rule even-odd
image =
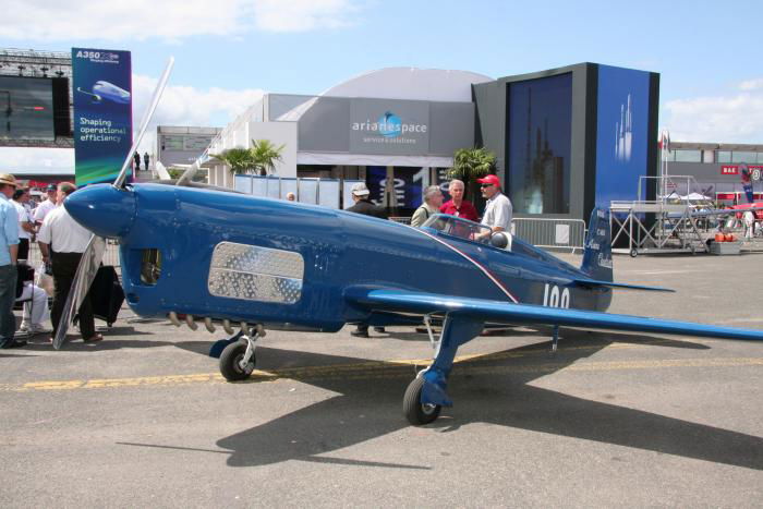
[[[344,295],[355,305],[373,311],[421,314],[450,313],[475,320],[512,325],[558,325],[565,327],[625,330],[632,332],[763,340],[763,330],[737,329],[732,327],[673,322],[643,316],[616,315],[596,311],[513,304],[504,301],[469,299],[405,290],[355,287],[347,289]]]

